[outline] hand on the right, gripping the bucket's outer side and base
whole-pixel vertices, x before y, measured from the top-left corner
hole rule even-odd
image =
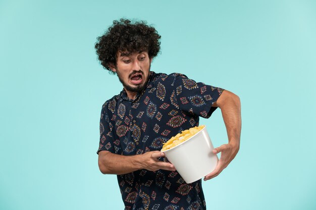
[[[235,158],[239,150],[239,145],[225,144],[213,150],[214,154],[221,153],[221,158],[213,172],[204,177],[204,181],[218,176],[228,164]]]

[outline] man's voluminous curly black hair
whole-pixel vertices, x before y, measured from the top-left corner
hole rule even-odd
[[[94,48],[101,65],[112,72],[109,65],[112,63],[116,66],[118,51],[148,51],[149,58],[153,58],[160,51],[160,38],[155,28],[148,26],[145,21],[132,23],[122,18],[120,21],[113,21],[108,31],[97,37]]]

